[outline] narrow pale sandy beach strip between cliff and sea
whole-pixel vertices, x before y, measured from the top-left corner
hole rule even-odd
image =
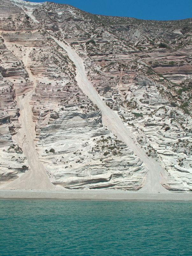
[[[98,201],[192,201],[192,192],[147,193],[139,191],[21,190],[0,189],[0,199],[98,200]]]

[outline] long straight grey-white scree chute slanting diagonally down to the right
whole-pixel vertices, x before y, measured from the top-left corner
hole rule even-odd
[[[149,169],[146,175],[145,184],[143,188],[141,188],[139,191],[164,193],[168,192],[168,190],[161,185],[162,175],[165,176],[164,169],[154,159],[146,156],[143,149],[140,148],[137,144],[132,133],[122,123],[117,113],[107,107],[107,105],[103,102],[85,73],[82,58],[75,52],[75,50],[71,48],[71,46],[57,40],[53,36],[52,38],[58,45],[60,45],[60,47],[62,47],[68,53],[69,58],[74,62],[76,66],[76,80],[78,86],[101,110],[103,124],[106,125],[108,129],[110,129],[115,135],[117,135],[119,139],[124,141],[127,146],[133,150],[134,154],[137,155]]]

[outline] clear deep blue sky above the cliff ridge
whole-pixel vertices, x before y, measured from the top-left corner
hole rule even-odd
[[[31,0],[31,2],[44,2]],[[52,0],[94,14],[126,16],[144,20],[192,18],[192,0]]]

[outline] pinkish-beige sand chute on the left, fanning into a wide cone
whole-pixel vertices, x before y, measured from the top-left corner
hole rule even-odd
[[[30,171],[25,172],[18,179],[5,184],[1,188],[12,189],[54,189],[55,186],[51,183],[46,173],[43,164],[39,161],[37,151],[35,149],[35,123],[32,121],[32,108],[29,104],[29,99],[36,87],[36,80],[33,77],[29,68],[28,56],[32,48],[27,48],[23,57],[25,69],[29,74],[29,78],[33,81],[33,88],[25,96],[16,96],[17,105],[20,109],[19,122],[21,128],[18,133],[12,137],[13,140],[18,142],[19,147],[22,148],[25,156],[27,157]]]

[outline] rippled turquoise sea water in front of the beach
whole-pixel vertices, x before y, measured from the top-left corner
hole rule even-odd
[[[191,256],[191,202],[0,200],[1,256]]]

